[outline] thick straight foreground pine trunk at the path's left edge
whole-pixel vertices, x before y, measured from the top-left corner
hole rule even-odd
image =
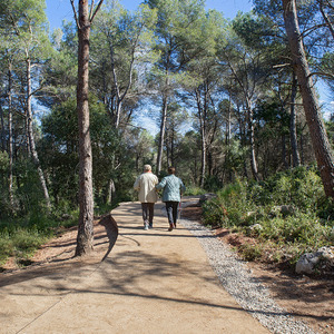
[[[79,225],[76,256],[94,249],[92,156],[89,127],[89,6],[79,0],[77,112],[79,127]]]

